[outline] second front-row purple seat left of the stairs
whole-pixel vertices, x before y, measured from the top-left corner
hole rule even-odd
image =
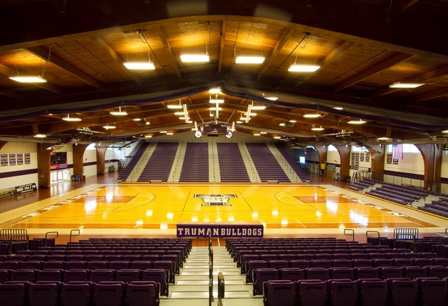
[[[101,281],[94,286],[96,306],[121,306],[123,294],[124,283],[122,281]]]

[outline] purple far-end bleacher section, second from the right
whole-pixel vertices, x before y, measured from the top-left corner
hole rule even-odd
[[[246,143],[261,181],[290,182],[279,162],[264,143]]]

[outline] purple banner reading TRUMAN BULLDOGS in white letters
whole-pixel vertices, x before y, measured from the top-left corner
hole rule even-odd
[[[261,223],[181,223],[177,224],[178,237],[246,237],[262,238],[263,224]]]

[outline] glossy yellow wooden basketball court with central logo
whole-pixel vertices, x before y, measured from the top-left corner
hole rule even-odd
[[[176,235],[178,223],[261,222],[265,235],[442,232],[447,221],[331,185],[89,185],[0,215],[1,228]]]

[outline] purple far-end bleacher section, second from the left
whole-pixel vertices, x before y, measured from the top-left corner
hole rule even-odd
[[[178,146],[174,142],[158,143],[137,181],[168,181]]]

